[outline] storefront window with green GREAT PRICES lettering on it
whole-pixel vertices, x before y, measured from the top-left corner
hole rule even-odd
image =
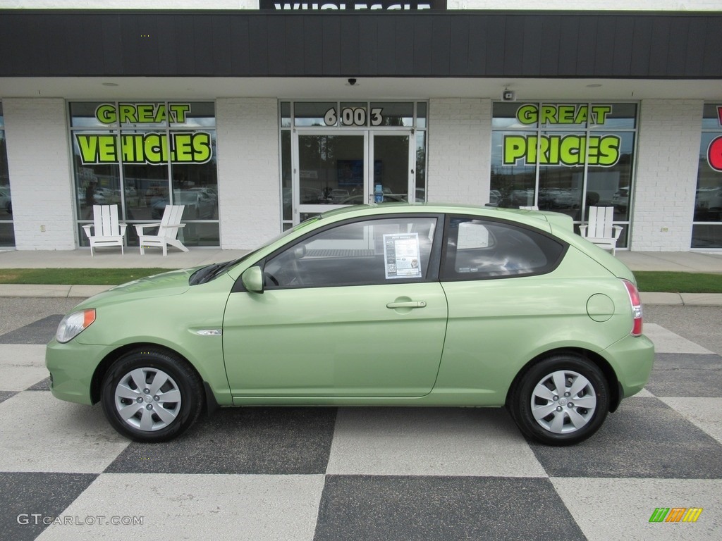
[[[590,206],[614,206],[627,246],[637,106],[494,104],[489,203],[562,212],[577,224]]]

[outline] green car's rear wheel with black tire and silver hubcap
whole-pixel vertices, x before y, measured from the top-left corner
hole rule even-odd
[[[604,422],[609,384],[599,366],[588,359],[555,355],[534,364],[518,379],[508,408],[525,436],[547,445],[573,445]]]

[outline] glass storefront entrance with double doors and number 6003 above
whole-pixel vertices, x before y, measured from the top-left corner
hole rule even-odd
[[[377,195],[382,203],[425,201],[427,109],[413,101],[279,102],[282,229]]]

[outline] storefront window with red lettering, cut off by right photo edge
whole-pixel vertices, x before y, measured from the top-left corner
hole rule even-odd
[[[705,105],[692,248],[722,248],[722,104]]]

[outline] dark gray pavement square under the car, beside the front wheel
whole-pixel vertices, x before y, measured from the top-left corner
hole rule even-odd
[[[106,472],[325,473],[336,408],[233,408],[165,444],[131,443]]]

